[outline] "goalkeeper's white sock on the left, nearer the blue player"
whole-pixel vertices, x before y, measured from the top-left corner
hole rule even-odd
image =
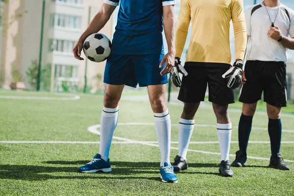
[[[178,156],[186,159],[189,142],[193,133],[195,120],[186,120],[180,118],[179,124],[179,152]]]

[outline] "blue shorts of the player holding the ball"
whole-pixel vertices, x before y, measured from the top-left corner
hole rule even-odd
[[[167,75],[160,75],[163,70],[159,64],[164,54],[119,55],[110,54],[104,71],[104,83],[113,85],[149,86],[165,84]]]

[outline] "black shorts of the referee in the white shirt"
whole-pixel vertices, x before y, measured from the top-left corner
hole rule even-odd
[[[247,61],[246,83],[242,86],[239,101],[255,103],[261,99],[276,107],[287,106],[286,63],[275,61]]]

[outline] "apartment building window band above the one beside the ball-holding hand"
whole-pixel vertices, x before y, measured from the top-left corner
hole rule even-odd
[[[61,26],[66,28],[81,28],[81,17],[70,16],[62,14],[51,14],[50,15],[50,27]]]

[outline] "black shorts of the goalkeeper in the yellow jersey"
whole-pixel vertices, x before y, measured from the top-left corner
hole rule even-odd
[[[234,91],[226,85],[222,74],[231,65],[224,63],[186,62],[187,76],[182,78],[178,99],[185,103],[204,101],[208,84],[209,101],[219,105],[235,102]]]

